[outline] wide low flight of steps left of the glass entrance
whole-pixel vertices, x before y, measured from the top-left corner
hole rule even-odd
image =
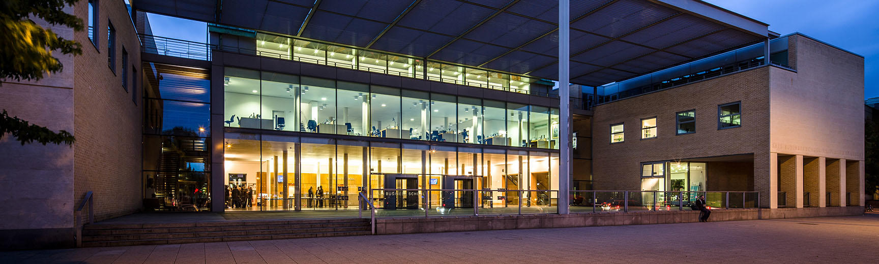
[[[83,246],[136,246],[370,234],[369,219],[85,225]]]

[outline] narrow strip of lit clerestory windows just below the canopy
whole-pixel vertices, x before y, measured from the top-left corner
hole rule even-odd
[[[214,26],[211,26],[211,29],[214,29]],[[224,28],[222,32],[227,30],[229,29]],[[241,46],[244,45],[238,44],[221,45],[219,48],[284,60],[526,94],[535,94],[536,91],[531,89],[531,85],[540,81],[539,78],[525,75],[510,75],[439,61],[426,61],[424,58],[385,54],[356,47],[338,46],[309,39],[288,38],[263,32],[256,32],[253,41],[256,43],[255,50],[243,48]],[[540,95],[549,96],[546,91]]]

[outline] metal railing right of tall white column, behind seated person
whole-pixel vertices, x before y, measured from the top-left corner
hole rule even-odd
[[[570,212],[692,210],[698,196],[709,209],[758,208],[756,191],[571,190]]]

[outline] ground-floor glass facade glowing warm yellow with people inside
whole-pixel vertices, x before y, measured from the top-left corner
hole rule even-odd
[[[356,214],[359,189],[437,190],[418,202],[399,203],[388,193],[372,193],[374,203],[388,200],[397,209],[423,208],[428,200],[437,208],[474,206],[472,192],[447,195],[439,189],[496,192],[501,195],[483,196],[476,204],[490,209],[521,203],[523,212],[556,206],[558,198],[551,191],[558,189],[557,153],[239,132],[226,132],[225,138],[227,210],[349,209]]]

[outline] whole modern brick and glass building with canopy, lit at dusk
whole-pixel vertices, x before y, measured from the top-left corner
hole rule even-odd
[[[11,114],[77,138],[0,142],[0,164],[15,168],[0,174],[40,175],[3,187],[16,194],[4,217],[18,221],[0,233],[33,240],[15,247],[71,245],[89,191],[98,220],[346,218],[361,197],[384,217],[732,199],[706,191],[732,191],[741,208],[820,209],[797,216],[863,205],[863,133],[851,129],[863,122],[863,58],[701,1],[571,3],[570,111],[554,89],[558,6],[539,1],[91,0],[70,11],[95,21],[93,35],[68,30],[88,51],[61,75],[0,90],[18,98],[0,104]],[[147,13],[206,22],[207,43],[156,36]],[[107,57],[106,71],[94,65]],[[616,190],[628,197],[584,199]]]

